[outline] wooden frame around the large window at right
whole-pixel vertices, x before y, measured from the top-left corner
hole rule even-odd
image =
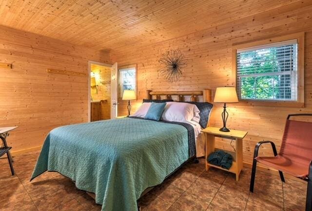
[[[257,47],[260,45],[272,44],[275,42],[284,42],[289,40],[297,40],[298,43],[298,58],[297,58],[297,100],[261,100],[261,99],[239,99],[240,105],[259,105],[259,106],[281,106],[281,107],[304,107],[304,40],[305,33],[294,33],[290,35],[275,37],[254,42],[234,43],[232,45],[232,81],[236,87],[236,61],[237,50],[243,48]],[[236,87],[237,89],[237,87]]]

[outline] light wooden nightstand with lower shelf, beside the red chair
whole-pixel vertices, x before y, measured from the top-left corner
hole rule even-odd
[[[204,134],[206,145],[206,170],[208,170],[210,167],[215,167],[217,169],[235,173],[236,181],[238,181],[240,171],[243,169],[243,138],[247,135],[247,132],[234,129],[231,129],[230,132],[222,132],[219,129],[219,127],[206,127],[205,129],[201,130],[201,132]],[[207,161],[208,156],[215,151],[215,137],[235,140],[235,152],[222,149],[223,151],[226,151],[233,156],[233,164],[230,169],[223,169],[219,166],[210,164]]]

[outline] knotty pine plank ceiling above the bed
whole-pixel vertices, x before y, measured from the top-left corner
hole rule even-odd
[[[110,50],[163,42],[296,1],[0,0],[0,24]]]

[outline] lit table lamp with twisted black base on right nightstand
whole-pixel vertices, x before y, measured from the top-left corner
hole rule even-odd
[[[220,131],[230,132],[230,130],[226,127],[226,121],[229,117],[229,113],[226,111],[226,104],[238,103],[235,87],[234,86],[217,87],[215,90],[214,102],[224,104],[222,112],[223,127],[220,128]]]

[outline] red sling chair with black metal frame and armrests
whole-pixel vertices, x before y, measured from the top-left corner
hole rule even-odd
[[[254,148],[250,191],[254,192],[255,169],[259,162],[278,170],[282,182],[285,182],[283,172],[308,181],[306,211],[312,211],[312,122],[290,120],[292,116],[312,116],[312,114],[288,115],[279,153],[272,141],[257,143]],[[260,146],[265,143],[271,144],[274,157],[258,156]]]

